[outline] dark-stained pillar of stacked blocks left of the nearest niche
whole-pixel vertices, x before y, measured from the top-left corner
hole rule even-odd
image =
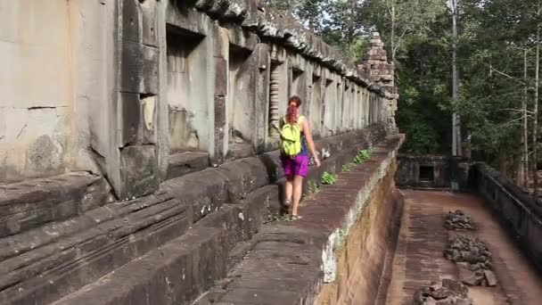
[[[104,143],[101,165],[120,199],[151,194],[160,183],[158,115],[160,2],[117,2],[115,82],[118,90],[103,111],[110,130],[94,140]],[[93,147],[94,147],[93,143]]]

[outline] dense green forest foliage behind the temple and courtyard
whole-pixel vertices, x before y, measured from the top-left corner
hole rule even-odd
[[[370,31],[380,32],[388,59],[396,67],[400,96],[396,121],[406,134],[402,152],[451,152],[451,116],[456,111],[461,115],[463,146],[475,159],[499,169],[518,163],[524,87],[529,88],[529,110],[534,105],[536,29],[542,20],[539,0],[458,2],[459,101],[451,100],[453,40],[448,1],[267,2],[292,12],[353,62],[362,61]],[[527,50],[526,82],[523,50]],[[528,118],[531,140],[533,114],[529,112]],[[357,157],[356,163],[362,160]]]

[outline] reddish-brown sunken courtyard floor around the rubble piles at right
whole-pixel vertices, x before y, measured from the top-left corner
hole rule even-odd
[[[441,278],[457,277],[456,266],[442,255],[448,239],[442,215],[457,209],[472,216],[477,227],[474,234],[489,244],[499,280],[496,287],[470,288],[474,304],[540,304],[542,277],[478,197],[414,190],[401,193],[405,196],[405,210],[387,300],[380,304],[410,304],[416,288]]]

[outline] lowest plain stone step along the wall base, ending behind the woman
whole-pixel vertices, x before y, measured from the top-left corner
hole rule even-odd
[[[228,254],[259,231],[277,194],[278,186],[268,185],[241,203],[226,203],[185,235],[53,304],[189,304],[226,277],[234,265]]]

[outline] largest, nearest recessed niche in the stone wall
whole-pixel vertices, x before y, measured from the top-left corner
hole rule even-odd
[[[166,25],[168,179],[209,166],[209,73],[205,36]]]

